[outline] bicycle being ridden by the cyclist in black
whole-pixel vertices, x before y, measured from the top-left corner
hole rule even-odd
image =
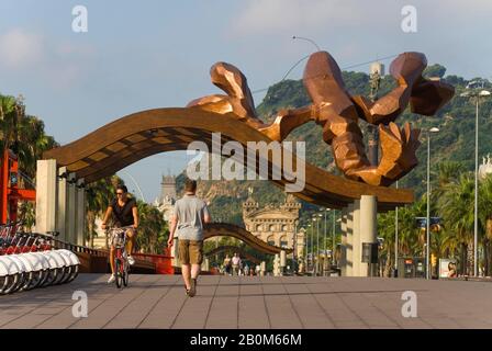
[[[126,252],[126,230],[133,227],[118,227],[110,228],[111,233],[111,242],[114,247],[114,281],[116,283],[116,287],[128,286],[130,279],[130,263],[127,260]],[[123,283],[123,284],[122,284]]]

